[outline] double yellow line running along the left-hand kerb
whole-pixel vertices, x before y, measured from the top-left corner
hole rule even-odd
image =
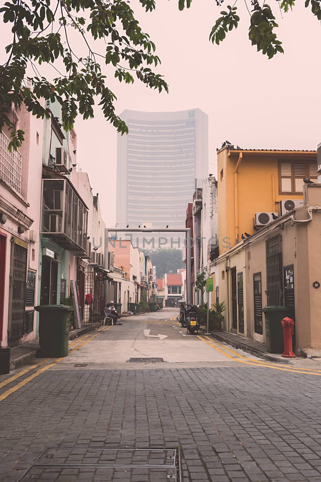
[[[106,326],[106,327],[103,326],[102,328],[99,328],[97,331],[98,332],[107,331],[110,328],[111,328],[111,326]],[[73,351],[78,350],[79,348],[81,348],[83,345],[88,343],[90,340],[92,340],[92,338],[95,338],[96,336],[98,336],[98,333],[96,333],[95,335],[84,335],[83,337],[79,338],[78,340],[74,341],[73,343],[70,343],[69,348],[74,347],[75,345],[77,345],[77,347],[72,348],[71,350],[69,349],[69,353],[72,353]],[[28,368],[25,368],[24,370],[22,370],[21,372],[7,378],[3,382],[0,382],[0,388],[5,387],[9,383],[12,383],[17,378],[20,378],[21,376],[25,375],[26,373],[30,372],[31,370],[34,370],[35,368],[39,367],[40,365],[43,365],[44,363],[48,362],[49,360],[50,360],[50,358],[45,358],[41,362],[36,363],[34,365],[31,365]],[[5,392],[3,392],[0,395],[0,402],[2,402],[2,400],[5,400],[7,397],[9,397],[9,395],[14,393],[15,391],[19,390],[19,388],[24,387],[27,383],[29,383],[31,380],[36,378],[36,376],[41,375],[41,373],[45,372],[46,370],[48,370],[52,366],[57,365],[57,363],[61,362],[62,360],[64,360],[64,357],[56,358],[56,360],[54,362],[49,363],[48,365],[45,365],[45,366],[41,367],[37,372],[33,373],[32,375],[28,376],[27,378],[25,378],[21,382],[17,383],[13,387],[11,387],[8,390],[6,390]]]

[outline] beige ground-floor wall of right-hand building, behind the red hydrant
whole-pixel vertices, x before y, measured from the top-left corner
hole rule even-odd
[[[257,233],[256,238],[242,241],[229,253],[221,255],[213,264],[218,274],[216,283],[219,286],[219,301],[224,300],[227,305],[223,328],[230,331],[232,326],[231,268],[235,266],[237,273],[241,271],[244,273],[244,335],[265,342],[264,313],[262,313],[263,334],[255,333],[253,275],[261,273],[262,307],[264,308],[268,305],[266,241],[278,235],[282,236],[283,282],[284,268],[289,265],[293,265],[294,268],[295,352],[297,354],[308,348],[321,348],[321,185],[305,185],[304,200],[305,206],[270,223],[267,230]],[[309,219],[311,207],[314,208],[311,211],[312,220],[306,222]],[[295,221],[303,222],[291,222],[291,215]],[[227,266],[229,269],[226,271]],[[291,310],[288,315],[293,316]]]

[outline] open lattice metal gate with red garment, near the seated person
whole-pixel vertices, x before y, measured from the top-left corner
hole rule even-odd
[[[84,306],[84,325],[95,324],[101,321],[103,303],[103,274],[97,271],[85,271],[85,299],[86,295],[93,297],[92,303]]]

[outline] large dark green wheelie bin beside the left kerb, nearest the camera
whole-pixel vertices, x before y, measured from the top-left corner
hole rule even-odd
[[[69,314],[73,310],[65,305],[35,306],[39,311],[39,345],[43,357],[68,356]]]

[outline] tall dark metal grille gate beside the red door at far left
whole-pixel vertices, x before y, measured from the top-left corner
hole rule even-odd
[[[25,334],[26,278],[28,245],[13,238],[10,267],[10,315],[8,342],[22,338]]]

